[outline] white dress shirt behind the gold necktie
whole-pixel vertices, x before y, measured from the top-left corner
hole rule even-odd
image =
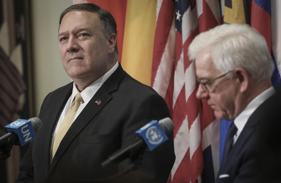
[[[92,97],[95,95],[95,93],[97,92],[98,89],[100,89],[100,87],[102,86],[102,84],[109,78],[110,75],[112,75],[112,73],[118,68],[118,62],[116,62],[116,64],[109,70],[107,71],[104,75],[102,75],[99,79],[95,80],[94,82],[92,82],[88,87],[86,87],[83,91],[81,91],[81,96],[83,101],[80,103],[80,106],[78,108],[78,111],[74,117],[74,121],[75,119],[78,117],[78,115],[81,113],[81,111],[85,108],[85,106],[87,105],[87,103],[92,99]],[[69,107],[71,106],[71,104],[73,103],[74,99],[75,99],[75,95],[79,93],[78,89],[75,86],[75,83],[73,82],[73,89],[72,89],[72,94],[69,97],[68,101],[66,102],[65,106],[64,106],[64,110],[61,112],[61,116],[59,117],[59,121],[57,122],[56,125],[56,129],[53,133],[52,136],[52,144],[51,144],[51,149],[50,152],[52,153],[52,148],[53,148],[53,144],[54,144],[54,140],[56,137],[56,133],[59,130],[59,127],[62,123],[62,121],[64,120],[64,117],[66,116],[66,113],[69,109]]]

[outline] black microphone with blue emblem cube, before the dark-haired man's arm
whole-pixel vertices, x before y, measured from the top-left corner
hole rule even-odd
[[[104,162],[102,167],[108,169],[114,165],[117,165],[127,157],[142,153],[146,146],[149,150],[155,149],[157,146],[168,140],[167,135],[173,132],[175,126],[171,118],[164,118],[162,120],[152,120],[148,124],[141,127],[136,133],[139,135],[127,146],[119,149],[115,153],[111,154]]]

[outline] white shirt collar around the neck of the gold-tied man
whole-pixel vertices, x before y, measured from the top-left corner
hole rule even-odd
[[[88,103],[92,97],[95,95],[98,89],[102,86],[102,84],[113,74],[113,72],[118,68],[119,62],[116,61],[115,65],[107,71],[104,75],[102,75],[100,78],[92,82],[88,87],[86,87],[83,91],[81,91],[81,96],[83,98],[83,101],[85,103]],[[75,98],[75,95],[79,93],[78,89],[75,86],[75,83],[73,82],[73,89],[71,94],[71,103],[73,103],[73,100]]]

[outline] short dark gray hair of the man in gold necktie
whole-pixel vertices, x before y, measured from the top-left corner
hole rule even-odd
[[[73,11],[73,10],[81,10],[81,11],[84,10],[84,11],[90,11],[90,12],[96,13],[99,16],[100,21],[102,22],[104,36],[107,37],[110,34],[117,35],[117,30],[116,30],[117,25],[116,25],[116,22],[112,16],[112,14],[109,11],[100,8],[100,6],[97,6],[92,3],[73,4],[73,5],[69,6],[68,8],[66,8],[61,13],[61,16],[59,18],[59,26],[61,25],[61,20],[64,17],[64,15],[66,13],[68,13],[69,11]],[[114,51],[116,52],[116,54],[118,56],[117,41],[115,44]]]

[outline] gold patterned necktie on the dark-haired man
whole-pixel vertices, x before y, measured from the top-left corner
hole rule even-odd
[[[68,109],[64,120],[61,123],[61,126],[59,127],[58,132],[56,133],[56,137],[54,140],[53,148],[52,148],[52,153],[50,156],[50,165],[52,164],[52,160],[55,156],[56,150],[59,147],[59,144],[61,143],[61,140],[64,138],[64,135],[70,128],[70,126],[73,123],[74,117],[77,113],[77,110],[80,106],[80,103],[83,101],[82,96],[80,93],[75,95],[75,101],[71,104],[70,108]]]

